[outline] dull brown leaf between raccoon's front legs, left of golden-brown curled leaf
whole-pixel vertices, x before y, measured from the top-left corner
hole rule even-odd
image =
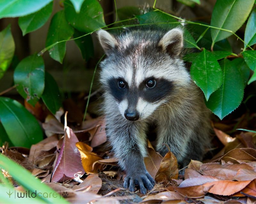
[[[148,157],[144,157],[144,163],[148,173],[153,179],[156,177],[156,173],[160,168],[162,159],[163,157],[154,149],[148,148]]]

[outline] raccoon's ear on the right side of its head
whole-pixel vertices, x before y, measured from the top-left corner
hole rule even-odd
[[[183,30],[173,28],[168,31],[161,38],[158,46],[163,47],[164,51],[168,52],[171,57],[179,56],[183,48]]]

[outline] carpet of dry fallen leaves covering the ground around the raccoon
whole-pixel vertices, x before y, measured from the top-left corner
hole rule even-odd
[[[62,124],[63,110],[53,116],[40,104],[35,108],[27,105],[43,122],[47,137],[30,149],[5,144],[1,151],[70,203],[256,202],[256,134],[234,130],[239,125],[236,121],[213,122],[213,143],[217,145],[209,151],[211,156],[203,162],[191,160],[185,171],[180,171],[171,151],[162,157],[148,141],[144,163],[156,185],[143,195],[138,189],[130,192],[123,187],[125,172],[108,145],[104,118],[87,116],[83,122],[77,108],[72,113],[73,101],[68,100],[65,106],[70,113]],[[239,120],[241,124],[246,118]],[[8,172],[4,175],[8,177]]]

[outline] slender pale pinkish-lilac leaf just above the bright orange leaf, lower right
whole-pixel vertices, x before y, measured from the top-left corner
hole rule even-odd
[[[217,179],[212,176],[202,176],[201,175],[201,176],[193,177],[190,179],[185,179],[184,181],[181,182],[179,187],[182,188],[182,187],[189,187],[189,186],[200,186],[205,183],[209,183],[209,182],[213,182],[213,181],[220,181],[220,179]]]

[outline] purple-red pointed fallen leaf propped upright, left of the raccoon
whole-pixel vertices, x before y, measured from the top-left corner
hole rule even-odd
[[[52,172],[52,181],[60,182],[75,178],[74,174],[84,174],[79,151],[76,143],[78,139],[71,128],[66,128],[62,146]]]

